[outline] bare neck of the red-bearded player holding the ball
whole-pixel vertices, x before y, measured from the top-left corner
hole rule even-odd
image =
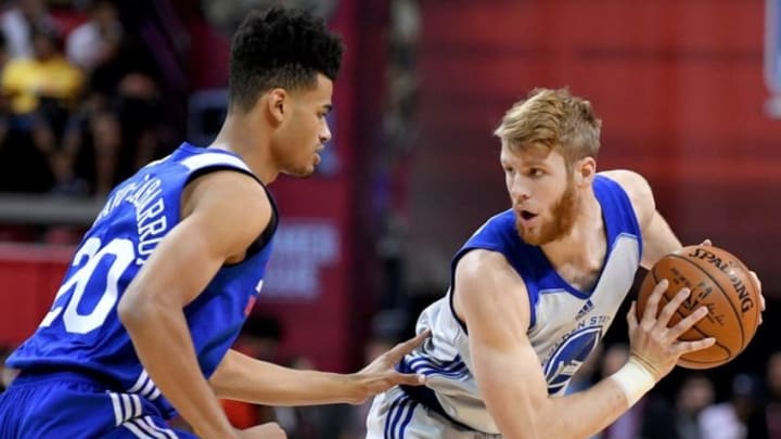
[[[602,206],[589,190],[582,195],[580,211],[576,214],[572,229],[541,247],[553,267],[575,266],[588,270],[602,267],[606,241]]]

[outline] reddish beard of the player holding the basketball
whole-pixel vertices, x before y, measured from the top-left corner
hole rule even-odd
[[[529,229],[516,220],[515,229],[526,244],[536,246],[548,244],[569,232],[575,224],[575,218],[577,217],[579,208],[580,197],[575,191],[575,184],[569,182],[562,196],[559,197],[550,209],[549,216],[551,219],[549,221],[539,221],[539,225],[535,229]],[[540,217],[542,217],[542,215]],[[540,219],[545,220],[545,218]]]

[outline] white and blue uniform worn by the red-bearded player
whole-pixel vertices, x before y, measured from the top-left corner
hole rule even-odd
[[[456,254],[447,295],[426,308],[417,331],[432,337],[401,362],[399,370],[425,374],[425,387],[394,388],[374,399],[368,438],[483,438],[498,435],[472,374],[468,328],[456,315],[452,294],[459,260],[473,249],[497,251],[523,279],[532,319],[526,335],[537,352],[551,396],[563,396],[569,379],[599,344],[631,288],[642,241],[629,197],[614,181],[597,177],[607,253],[590,292],[564,281],[538,246],[522,241],[515,214],[489,219]],[[515,294],[508,290],[507,294]]]

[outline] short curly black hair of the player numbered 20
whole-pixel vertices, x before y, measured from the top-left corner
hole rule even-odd
[[[315,87],[317,74],[335,80],[343,51],[342,39],[306,11],[251,12],[231,42],[231,106],[249,111],[260,93],[277,87]]]

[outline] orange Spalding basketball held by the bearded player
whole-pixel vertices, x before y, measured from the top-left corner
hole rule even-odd
[[[705,306],[707,315],[680,339],[716,338],[712,347],[683,354],[678,365],[687,369],[716,367],[745,349],[756,333],[761,310],[758,287],[740,259],[718,247],[702,245],[683,247],[666,255],[649,270],[640,285],[638,320],[642,318],[654,287],[663,279],[667,279],[669,287],[660,300],[660,311],[679,289],[691,289],[691,295],[678,308],[668,326]]]

